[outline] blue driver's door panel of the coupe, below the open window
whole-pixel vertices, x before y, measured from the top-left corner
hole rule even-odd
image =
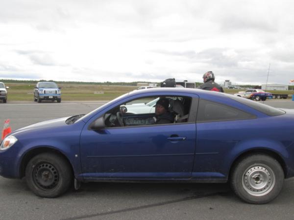
[[[196,102],[193,99],[192,105]],[[80,137],[84,178],[190,178],[196,144],[196,114],[190,112],[190,115],[186,123],[98,131],[88,128],[96,118],[90,120]]]

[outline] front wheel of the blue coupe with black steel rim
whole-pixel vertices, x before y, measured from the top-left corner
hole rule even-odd
[[[55,198],[65,193],[73,183],[70,164],[58,154],[34,156],[25,168],[27,186],[39,197]]]

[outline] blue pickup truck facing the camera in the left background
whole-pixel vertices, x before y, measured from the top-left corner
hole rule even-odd
[[[42,102],[43,100],[50,100],[54,102],[61,102],[60,87],[53,82],[38,82],[34,88],[34,101]]]

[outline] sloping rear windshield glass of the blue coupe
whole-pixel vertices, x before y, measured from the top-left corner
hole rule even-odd
[[[242,97],[238,97],[238,96],[234,96],[234,95],[230,95],[230,94],[224,94],[226,96],[228,96],[231,99],[234,99],[237,102],[240,102],[246,106],[249,106],[252,109],[261,111],[262,113],[265,113],[269,116],[277,116],[277,115],[281,115],[281,114],[285,114],[286,112],[280,109],[276,109],[273,108],[271,106],[256,102],[256,101],[252,101],[249,99],[245,99]]]

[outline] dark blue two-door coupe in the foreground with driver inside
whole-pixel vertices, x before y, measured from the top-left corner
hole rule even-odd
[[[169,100],[172,123],[127,111],[155,98]],[[0,175],[25,176],[45,198],[90,181],[229,181],[244,201],[266,203],[294,176],[293,121],[294,110],[220,92],[142,89],[12,132],[0,145]]]

